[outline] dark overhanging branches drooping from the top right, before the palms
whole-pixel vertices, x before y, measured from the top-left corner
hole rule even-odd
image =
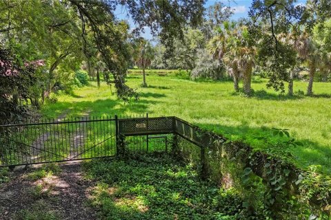
[[[268,87],[283,92],[283,82],[291,83],[288,72],[294,67],[295,51],[292,45],[281,43],[279,37],[289,32],[297,36],[303,32],[311,34],[315,25],[330,19],[330,14],[329,0],[308,0],[305,5],[297,4],[296,0],[252,1],[248,27],[254,38],[260,39],[259,65],[264,67],[267,64],[265,61],[268,61]],[[264,27],[263,30],[261,27]]]

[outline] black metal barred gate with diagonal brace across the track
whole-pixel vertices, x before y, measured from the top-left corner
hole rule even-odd
[[[115,155],[116,126],[109,117],[0,125],[0,166]]]

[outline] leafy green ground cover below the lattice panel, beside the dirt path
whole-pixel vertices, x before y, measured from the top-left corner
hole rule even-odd
[[[169,155],[106,159],[84,166],[91,206],[100,219],[261,219],[241,197],[202,181],[197,169]]]

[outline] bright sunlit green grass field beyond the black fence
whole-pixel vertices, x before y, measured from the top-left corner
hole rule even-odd
[[[147,76],[147,88],[141,88],[141,76],[128,76],[128,85],[141,95],[137,102],[117,100],[106,83],[96,83],[74,91],[74,96],[59,96],[47,104],[43,113],[49,118],[66,109],[68,115],[175,115],[232,140],[243,140],[255,148],[264,144],[255,137],[272,136],[272,128],[290,129],[292,137],[303,142],[292,151],[294,163],[301,168],[320,165],[331,173],[331,83],[314,83],[314,97],[279,96],[266,89],[265,82],[252,83],[254,96],[233,92],[232,82],[194,82],[173,76]],[[262,81],[262,82],[261,82]],[[307,83],[294,82],[294,91],[305,91]],[[112,87],[114,92],[114,87]]]

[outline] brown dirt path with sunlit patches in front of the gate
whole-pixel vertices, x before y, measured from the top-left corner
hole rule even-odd
[[[97,219],[96,212],[86,205],[93,183],[83,179],[79,162],[60,167],[58,175],[37,180],[29,177],[36,168],[14,171],[12,181],[0,187],[0,219],[20,219],[24,213],[38,211],[52,213],[56,219]],[[40,203],[36,210],[34,206]]]

